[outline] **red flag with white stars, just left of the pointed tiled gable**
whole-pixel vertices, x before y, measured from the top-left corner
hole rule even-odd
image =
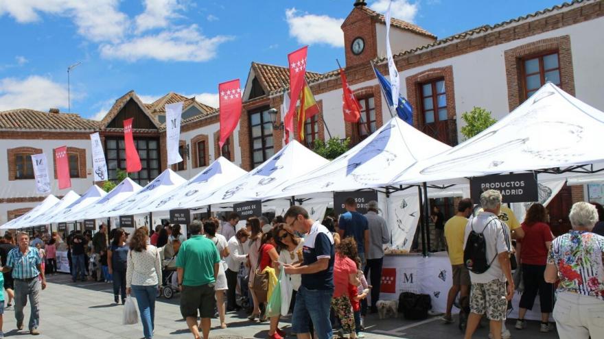
[[[222,149],[224,142],[237,127],[241,116],[243,93],[239,79],[218,85],[218,94],[220,95],[220,141],[218,141],[218,145]]]

